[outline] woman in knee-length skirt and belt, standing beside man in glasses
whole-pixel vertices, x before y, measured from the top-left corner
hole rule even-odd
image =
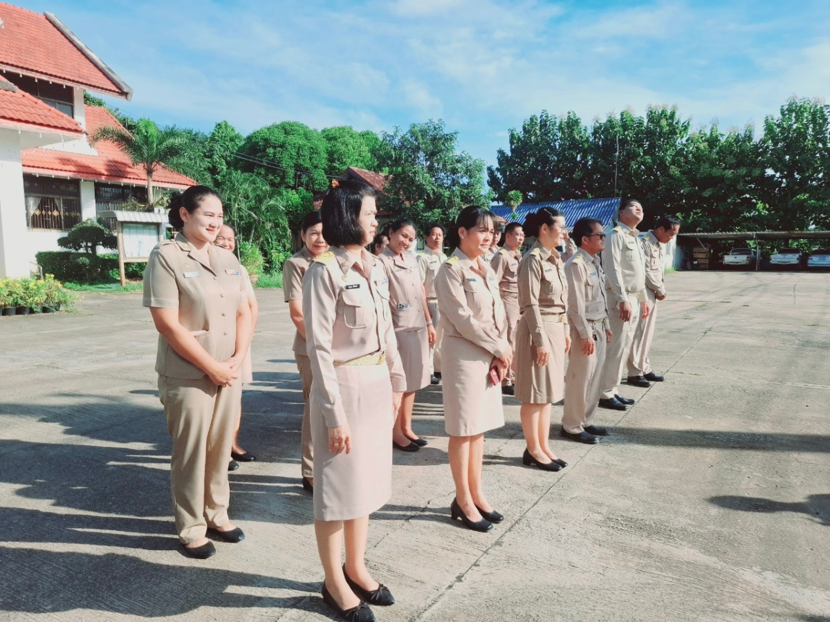
[[[521,317],[515,336],[515,397],[527,449],[525,464],[545,471],[567,466],[549,445],[550,411],[564,395],[565,354],[570,349],[565,301],[568,280],[556,250],[564,237],[561,211],[543,207],[525,219],[525,235],[536,242],[519,264]]]

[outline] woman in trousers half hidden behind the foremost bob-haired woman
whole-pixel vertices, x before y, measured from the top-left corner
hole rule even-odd
[[[297,371],[300,372],[300,381],[303,384],[303,425],[300,433],[302,443],[302,458],[300,471],[303,488],[309,492],[314,490],[314,449],[311,445],[311,424],[309,419],[309,399],[311,395],[311,362],[305,347],[305,322],[303,320],[303,277],[311,262],[326,250],[329,243],[323,239],[323,220],[320,212],[310,211],[305,215],[300,230],[300,239],[303,247],[299,252],[291,255],[282,266],[282,290],[286,295],[288,313],[291,322],[297,328],[294,336],[294,360]]]

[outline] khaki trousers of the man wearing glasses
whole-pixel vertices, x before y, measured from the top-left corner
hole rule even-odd
[[[582,352],[582,338],[576,327],[571,327],[571,351],[568,372],[565,373],[565,404],[562,427],[566,432],[579,434],[586,425],[593,425],[597,414],[599,395],[602,391],[603,364],[605,363],[605,327],[602,321],[592,323],[597,331],[593,354]]]

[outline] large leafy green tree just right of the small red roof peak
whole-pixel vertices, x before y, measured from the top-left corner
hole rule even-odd
[[[378,164],[390,177],[383,207],[422,226],[453,221],[467,205],[489,205],[484,161],[457,152],[457,142],[457,132],[440,120],[384,133]]]

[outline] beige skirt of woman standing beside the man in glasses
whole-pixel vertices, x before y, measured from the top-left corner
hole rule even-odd
[[[514,396],[523,404],[553,404],[564,396],[565,325],[543,321],[542,326],[550,349],[547,365],[536,365],[536,347],[530,338],[526,315],[519,318],[519,326],[516,328]]]

